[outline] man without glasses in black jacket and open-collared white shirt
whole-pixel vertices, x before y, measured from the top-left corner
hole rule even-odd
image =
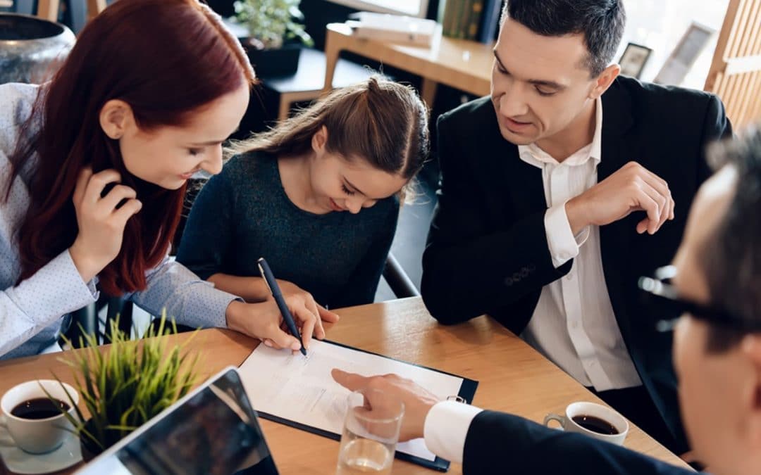
[[[509,0],[492,95],[438,119],[441,185],[422,297],[438,321],[491,315],[681,453],[670,340],[638,276],[673,257],[731,135],[708,93],[610,65],[622,0]]]

